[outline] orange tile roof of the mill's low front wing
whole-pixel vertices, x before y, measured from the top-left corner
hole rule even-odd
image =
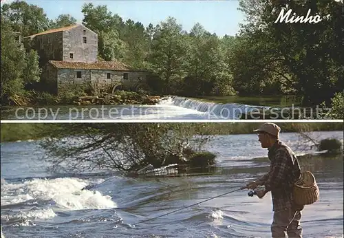
[[[72,61],[49,61],[57,69],[106,69],[117,71],[137,71],[119,61],[96,61],[92,63]]]

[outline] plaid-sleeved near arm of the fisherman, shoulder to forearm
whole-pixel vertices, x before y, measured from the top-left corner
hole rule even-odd
[[[272,168],[270,169],[270,175],[264,183],[266,193],[280,186],[286,180],[286,175],[290,171],[288,165],[289,160],[290,158],[286,151],[277,151]]]

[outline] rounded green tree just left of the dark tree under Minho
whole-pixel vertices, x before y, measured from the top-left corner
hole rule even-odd
[[[241,95],[284,94],[292,92],[295,85],[283,56],[264,31],[238,36],[226,60],[233,73],[233,87]]]

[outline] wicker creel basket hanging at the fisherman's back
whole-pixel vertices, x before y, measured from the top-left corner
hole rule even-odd
[[[318,201],[319,187],[310,171],[301,173],[301,177],[294,184],[294,202],[298,205],[309,205]]]

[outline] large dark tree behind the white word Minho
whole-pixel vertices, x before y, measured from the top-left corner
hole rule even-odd
[[[264,32],[262,43],[270,42],[271,49],[281,55],[281,63],[295,78],[294,89],[303,97],[303,105],[329,102],[336,91],[343,89],[340,72],[343,55],[339,50],[342,45],[341,5],[331,0],[255,0],[240,1],[239,4],[248,21],[241,34]],[[304,16],[310,9],[314,14],[330,14],[330,17],[319,23],[275,23],[282,8]],[[253,57],[259,60],[266,54]]]

